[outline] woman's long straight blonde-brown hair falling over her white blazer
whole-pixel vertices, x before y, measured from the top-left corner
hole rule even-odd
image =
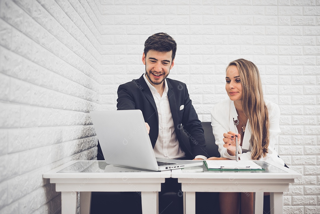
[[[265,157],[269,146],[268,109],[263,100],[260,74],[257,66],[245,59],[229,63],[239,71],[242,85],[242,109],[251,126],[251,158],[259,160]],[[227,67],[227,69],[228,69]]]

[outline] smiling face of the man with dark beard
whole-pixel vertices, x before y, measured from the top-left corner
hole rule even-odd
[[[172,51],[158,52],[149,50],[147,56],[143,53],[142,62],[146,65],[148,81],[153,86],[162,85],[164,79],[169,75],[174,64]]]

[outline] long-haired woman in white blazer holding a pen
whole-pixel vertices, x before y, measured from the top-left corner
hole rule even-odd
[[[221,158],[235,160],[236,143],[240,160],[272,160],[284,166],[275,145],[280,134],[280,109],[265,101],[259,70],[248,60],[230,62],[226,70],[226,91],[230,100],[211,111],[212,130]],[[235,142],[237,136],[238,142]],[[220,193],[221,213],[253,213],[253,193]]]

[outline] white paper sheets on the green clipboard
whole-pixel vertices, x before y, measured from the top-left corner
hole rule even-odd
[[[208,170],[264,170],[252,160],[204,160]]]

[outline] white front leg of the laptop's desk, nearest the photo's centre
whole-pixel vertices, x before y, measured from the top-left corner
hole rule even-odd
[[[142,214],[158,213],[158,192],[141,192]]]

